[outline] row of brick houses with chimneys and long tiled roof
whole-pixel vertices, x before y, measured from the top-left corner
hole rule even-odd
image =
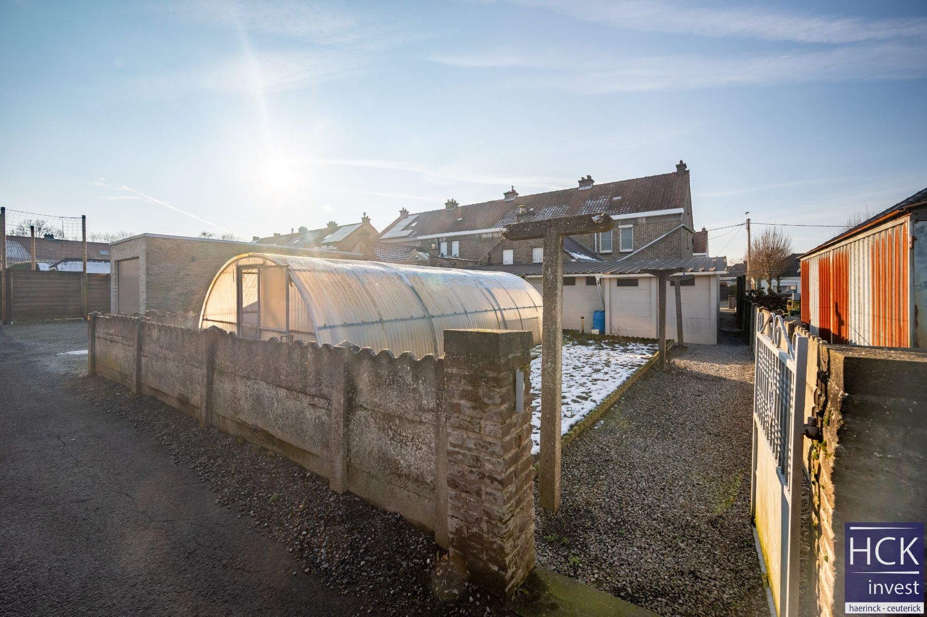
[[[461,206],[449,199],[439,210],[411,213],[403,208],[379,240],[454,259],[464,267],[537,263],[543,259],[541,241],[506,240],[505,226],[600,212],[611,215],[615,228],[571,236],[565,242],[565,260],[671,259],[707,253],[707,233],[696,233],[692,226],[689,170],[681,160],[676,171],[644,178],[597,184],[586,176],[574,188],[548,193],[518,195],[512,187],[502,199],[478,204]]]

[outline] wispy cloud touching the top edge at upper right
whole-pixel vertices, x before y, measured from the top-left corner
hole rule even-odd
[[[927,19],[862,19],[787,12],[762,6],[692,6],[650,0],[515,0],[551,8],[574,19],[607,23],[616,28],[746,37],[764,41],[845,44],[900,37],[927,38]]]

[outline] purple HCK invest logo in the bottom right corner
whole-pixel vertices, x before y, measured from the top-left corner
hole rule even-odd
[[[924,523],[844,523],[846,614],[924,614]]]

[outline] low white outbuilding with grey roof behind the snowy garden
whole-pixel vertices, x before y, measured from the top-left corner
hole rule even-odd
[[[540,263],[485,266],[524,277],[541,291]],[[642,271],[682,268],[692,275],[682,285],[682,334],[686,343],[717,344],[718,291],[726,273],[723,257],[575,261],[564,264],[564,328],[586,332],[594,311],[603,310],[605,333],[641,338],[657,336],[656,278]],[[580,318],[585,318],[581,320]],[[676,294],[667,288],[667,336],[676,338]]]

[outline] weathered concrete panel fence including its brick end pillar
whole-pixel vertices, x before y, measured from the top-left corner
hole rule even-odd
[[[530,384],[514,386],[531,334],[448,336],[447,358],[397,358],[93,313],[88,371],[399,512],[508,597],[534,565]]]

